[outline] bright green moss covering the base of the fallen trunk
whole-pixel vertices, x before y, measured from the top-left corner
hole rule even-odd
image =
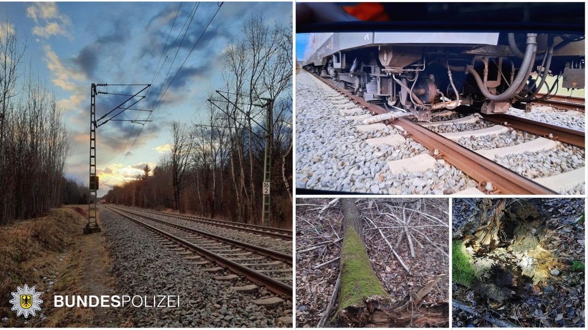
[[[336,315],[349,307],[363,307],[368,297],[389,297],[370,264],[362,240],[353,228],[347,229],[341,251],[341,287]]]

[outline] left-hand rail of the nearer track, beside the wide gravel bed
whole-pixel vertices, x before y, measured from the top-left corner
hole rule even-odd
[[[163,237],[168,238],[169,240],[175,241],[176,243],[182,245],[185,248],[188,248],[189,250],[200,252],[208,260],[214,261],[219,265],[225,266],[232,272],[245,275],[245,277],[248,278],[250,281],[264,285],[269,289],[269,291],[272,291],[275,294],[288,297],[289,299],[292,299],[293,297],[292,285],[288,285],[284,282],[275,280],[274,278],[269,277],[268,275],[252,270],[251,268],[240,265],[235,261],[228,260],[227,258],[224,258],[216,254],[215,252],[206,250],[205,248],[199,247],[198,245],[183,240],[183,238],[179,238],[175,235],[167,233],[166,231],[153,227],[150,224],[143,223],[143,221],[133,218],[131,217],[131,215],[124,214],[122,213],[122,211],[116,210],[116,208],[108,208],[108,210],[111,210],[112,212],[119,214],[122,217],[128,218],[129,220],[135,221],[135,223],[138,223],[143,227],[148,228],[149,230],[155,231],[155,233],[158,233]]]

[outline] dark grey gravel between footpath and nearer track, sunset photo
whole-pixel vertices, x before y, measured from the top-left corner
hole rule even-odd
[[[202,271],[206,266],[190,264],[153,238],[139,224],[101,208],[101,221],[113,260],[118,295],[180,295],[179,307],[125,307],[133,326],[168,327],[277,327],[278,318],[292,316],[292,301],[278,307],[260,307],[253,299],[273,297],[265,288],[245,294],[231,286],[251,282],[216,281]],[[227,275],[227,274],[220,274]],[[121,320],[121,326],[128,325]]]

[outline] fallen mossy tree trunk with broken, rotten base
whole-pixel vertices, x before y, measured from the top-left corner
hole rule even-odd
[[[419,292],[393,297],[378,280],[363,238],[363,219],[353,198],[341,198],[343,245],[340,256],[341,287],[335,319],[354,327],[443,326],[448,323],[449,305],[422,305],[422,299],[439,281],[430,281]]]

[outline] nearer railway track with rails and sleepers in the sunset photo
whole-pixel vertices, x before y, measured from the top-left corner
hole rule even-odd
[[[219,275],[215,280],[232,281],[242,275],[280,297],[292,299],[292,255],[162,220],[157,215],[145,215],[120,207],[105,207],[152,231],[162,245],[178,252],[186,261],[206,267],[203,271],[233,273]],[[214,264],[216,267],[212,267]],[[258,289],[255,284],[233,289],[251,292]],[[275,304],[279,298],[268,299],[270,301],[261,301],[260,304]]]

